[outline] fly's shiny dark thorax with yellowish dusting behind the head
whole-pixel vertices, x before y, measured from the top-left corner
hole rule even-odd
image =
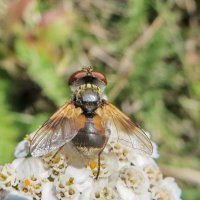
[[[74,92],[74,101],[84,112],[91,113],[96,110],[101,102],[102,92],[93,84],[80,85]]]

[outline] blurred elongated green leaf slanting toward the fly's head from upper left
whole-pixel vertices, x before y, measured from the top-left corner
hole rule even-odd
[[[57,106],[62,105],[69,97],[69,89],[56,72],[50,55],[37,48],[28,46],[22,40],[16,44],[18,58],[26,64],[27,73]]]

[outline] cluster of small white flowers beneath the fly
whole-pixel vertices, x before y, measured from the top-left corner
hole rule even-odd
[[[85,160],[70,144],[41,158],[28,154],[28,139],[18,144],[11,164],[0,166],[0,199],[180,200],[174,178],[163,178],[152,157],[110,139],[100,159]]]

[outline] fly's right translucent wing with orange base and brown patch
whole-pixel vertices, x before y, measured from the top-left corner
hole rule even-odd
[[[120,140],[128,147],[152,154],[151,141],[144,131],[111,103],[105,101],[96,113],[111,127],[111,138]]]

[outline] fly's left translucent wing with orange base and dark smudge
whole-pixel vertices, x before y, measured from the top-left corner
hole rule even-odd
[[[80,129],[81,113],[81,108],[75,108],[71,102],[63,105],[33,136],[31,155],[45,155],[72,140]]]

